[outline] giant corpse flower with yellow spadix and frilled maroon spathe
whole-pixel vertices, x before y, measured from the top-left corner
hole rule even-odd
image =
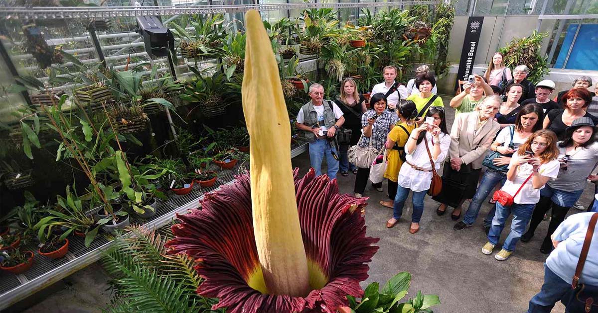
[[[291,128],[278,67],[257,11],[246,14],[243,111],[251,175],[206,194],[202,209],[178,215],[169,253],[197,260],[202,296],[227,312],[335,312],[378,247],[365,236],[365,198],[339,194],[335,179],[291,167]]]

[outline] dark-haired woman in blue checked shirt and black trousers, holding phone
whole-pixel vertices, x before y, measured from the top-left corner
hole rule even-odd
[[[367,147],[371,144],[378,151],[383,148],[386,136],[390,129],[395,126],[395,113],[386,110],[386,97],[377,93],[370,99],[373,110],[368,110],[361,116],[361,126],[364,130],[364,138],[359,144],[360,147]],[[371,165],[370,165],[371,166]],[[365,185],[370,178],[370,168],[358,168],[355,176],[355,197],[361,197],[365,191]],[[382,192],[382,182],[372,184],[377,191]]]

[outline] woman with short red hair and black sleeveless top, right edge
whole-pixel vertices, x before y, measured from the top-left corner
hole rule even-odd
[[[570,89],[563,95],[563,103],[565,106],[560,110],[550,110],[544,118],[544,128],[550,129],[559,140],[565,139],[565,129],[571,126],[573,120],[579,119],[579,117],[590,117],[594,125],[598,123],[598,117],[585,111],[590,103],[592,97],[590,92],[584,88]]]

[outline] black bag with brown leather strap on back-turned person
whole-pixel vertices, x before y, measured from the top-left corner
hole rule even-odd
[[[594,228],[596,228],[596,221],[598,221],[598,213],[594,213],[590,218],[590,225],[588,225],[588,231],[585,233],[584,245],[581,248],[581,254],[577,261],[575,275],[573,275],[573,282],[571,284],[573,293],[567,305],[567,312],[598,312],[598,286],[579,283],[581,271],[584,269],[585,258],[587,258],[590,251],[590,243],[594,235]]]

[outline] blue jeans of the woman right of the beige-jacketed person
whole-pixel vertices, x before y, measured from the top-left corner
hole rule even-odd
[[[467,212],[465,212],[465,216],[463,216],[463,223],[467,225],[472,225],[475,222],[475,219],[478,218],[478,214],[480,213],[480,207],[486,197],[494,190],[496,184],[501,182],[501,185],[505,184],[507,180],[507,173],[493,171],[492,169],[486,169],[482,179],[480,181],[480,185],[478,185],[478,190],[475,191],[474,197],[471,199],[471,203],[469,203],[469,207]],[[484,218],[484,226],[490,227],[492,225],[492,219],[494,218],[496,211],[496,207],[492,207],[486,218]]]

